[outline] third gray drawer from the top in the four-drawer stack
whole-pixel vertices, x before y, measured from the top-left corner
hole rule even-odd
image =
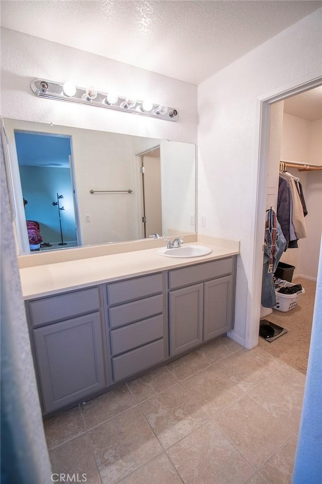
[[[162,314],[133,323],[110,333],[112,355],[149,343],[164,336],[164,317]]]

